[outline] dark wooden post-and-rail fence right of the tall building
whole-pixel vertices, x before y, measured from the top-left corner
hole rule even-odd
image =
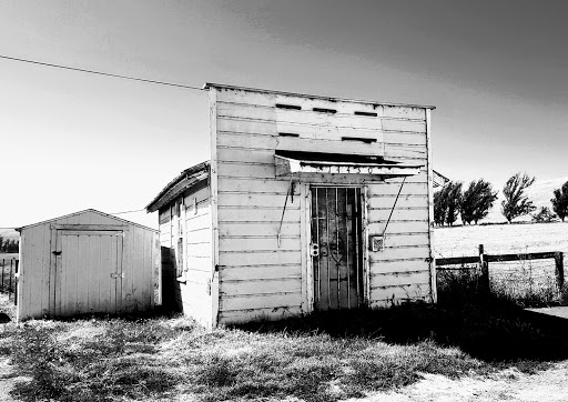
[[[464,271],[470,269],[479,270],[479,285],[491,291],[489,281],[489,264],[504,262],[519,262],[535,260],[554,260],[555,265],[555,285],[557,292],[561,292],[565,284],[564,277],[564,253],[560,251],[535,252],[535,253],[515,253],[515,254],[487,254],[484,245],[479,244],[479,254],[471,257],[452,257],[436,259],[437,271]]]

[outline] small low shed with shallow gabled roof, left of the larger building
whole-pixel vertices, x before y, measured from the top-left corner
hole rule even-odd
[[[151,309],[158,231],[95,210],[19,228],[17,320]]]

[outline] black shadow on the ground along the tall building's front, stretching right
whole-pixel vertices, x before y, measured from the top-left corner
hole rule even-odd
[[[262,333],[375,338],[394,344],[434,340],[491,363],[568,359],[568,320],[527,311],[493,297],[465,303],[328,311],[240,328]]]

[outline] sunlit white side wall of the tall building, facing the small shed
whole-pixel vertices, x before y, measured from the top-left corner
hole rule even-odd
[[[180,215],[175,213],[176,201],[182,203]],[[160,210],[164,303],[193,316],[206,326],[213,321],[211,224],[209,187],[181,194]],[[186,269],[180,278],[175,274],[179,237],[182,237],[184,243],[183,264]]]

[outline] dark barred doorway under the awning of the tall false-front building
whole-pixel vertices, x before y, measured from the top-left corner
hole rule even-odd
[[[361,188],[312,188],[314,308],[352,309],[363,303]]]

